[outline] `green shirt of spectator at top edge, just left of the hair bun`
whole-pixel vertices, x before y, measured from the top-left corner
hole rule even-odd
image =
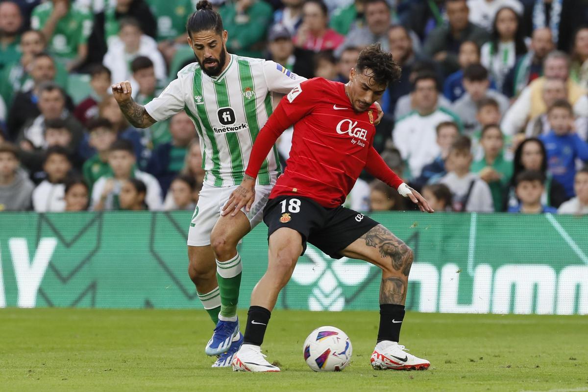
[[[157,20],[157,40],[176,39],[186,32],[188,16],[195,11],[191,0],[147,0]]]

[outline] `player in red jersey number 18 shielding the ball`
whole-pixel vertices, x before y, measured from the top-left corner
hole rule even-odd
[[[223,214],[250,208],[255,177],[280,134],[292,124],[292,149],[286,171],[278,178],[263,220],[269,227],[268,270],[253,289],[245,342],[233,357],[233,370],[280,371],[260,351],[270,312],[288,283],[306,242],[335,259],[343,256],[382,269],[380,327],[371,357],[374,369],[427,369],[398,344],[405,315],[412,250],[387,228],[359,212],[342,207],[365,168],[409,197],[421,211],[427,201],[387,167],[372,146],[374,102],[400,76],[390,53],[372,45],[364,49],[349,83],[315,78],[300,83],[279,103],[253,144],[245,179]]]

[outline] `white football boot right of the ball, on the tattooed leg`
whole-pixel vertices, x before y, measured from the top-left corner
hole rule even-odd
[[[405,346],[390,340],[383,340],[373,349],[372,363],[376,370],[427,370],[430,362],[407,353]]]

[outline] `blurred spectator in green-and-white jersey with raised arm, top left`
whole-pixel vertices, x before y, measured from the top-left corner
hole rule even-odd
[[[70,0],[51,0],[35,7],[31,26],[43,32],[49,51],[71,71],[82,65],[88,56],[92,16]]]

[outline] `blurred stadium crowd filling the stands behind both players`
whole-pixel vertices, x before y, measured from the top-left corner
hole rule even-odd
[[[347,82],[380,43],[402,66],[374,145],[436,211],[588,214],[586,0],[213,1],[230,53]],[[195,1],[0,2],[0,211],[195,208],[201,147],[181,111],[129,125],[195,61]],[[292,131],[279,140],[282,164]],[[366,174],[346,202],[410,208]]]

